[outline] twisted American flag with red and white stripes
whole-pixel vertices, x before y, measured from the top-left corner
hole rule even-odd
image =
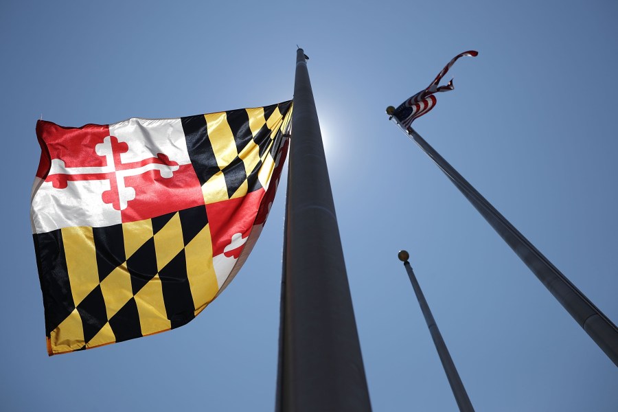
[[[422,115],[431,111],[431,109],[435,106],[436,98],[434,93],[440,93],[443,91],[450,91],[455,89],[453,86],[453,79],[451,79],[446,85],[438,86],[440,80],[446,75],[448,69],[452,67],[455,62],[464,56],[476,57],[479,55],[479,52],[475,52],[474,50],[469,50],[468,52],[457,54],[446,66],[444,69],[438,73],[433,82],[429,84],[429,86],[413,95],[411,98],[400,104],[393,113],[389,113],[395,117],[395,119],[403,126],[403,128],[409,128],[414,119],[421,117]]]

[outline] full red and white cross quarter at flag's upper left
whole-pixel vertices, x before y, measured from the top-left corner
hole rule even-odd
[[[35,233],[109,226],[204,205],[180,119],[37,127],[49,157],[42,156],[36,174]]]

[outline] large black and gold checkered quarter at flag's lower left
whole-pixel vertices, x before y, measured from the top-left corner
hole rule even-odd
[[[215,297],[204,207],[35,235],[50,354],[184,325]]]

